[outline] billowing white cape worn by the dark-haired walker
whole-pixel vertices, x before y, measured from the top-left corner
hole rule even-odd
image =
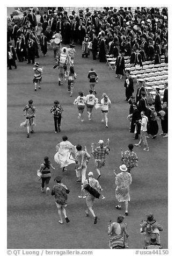
[[[71,154],[75,154],[76,147],[72,145],[68,140],[61,141],[56,145],[57,153],[54,155],[54,160],[59,163],[60,167],[65,167],[75,163],[75,160],[70,159]]]

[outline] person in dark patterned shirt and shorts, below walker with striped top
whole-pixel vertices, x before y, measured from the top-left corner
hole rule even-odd
[[[56,185],[53,187],[51,195],[55,196],[56,200],[56,206],[58,209],[58,214],[60,217],[60,220],[58,221],[60,224],[63,224],[63,217],[65,218],[65,221],[68,223],[70,222],[69,218],[67,217],[65,208],[67,207],[67,200],[68,200],[68,195],[69,194],[69,189],[61,183],[61,177],[56,176],[54,181],[56,181]]]

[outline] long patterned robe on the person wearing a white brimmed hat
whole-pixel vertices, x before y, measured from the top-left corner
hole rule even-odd
[[[128,172],[121,172],[115,177],[115,197],[119,202],[130,201],[129,186],[132,183],[132,176]]]

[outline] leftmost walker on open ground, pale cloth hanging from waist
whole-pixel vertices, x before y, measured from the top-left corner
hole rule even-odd
[[[20,127],[27,127],[27,138],[29,138],[30,129],[31,129],[31,133],[33,133],[34,132],[33,126],[36,125],[36,123],[35,123],[36,109],[35,109],[35,106],[33,105],[32,99],[30,99],[30,101],[28,101],[28,104],[25,106],[23,111],[26,111],[24,114],[26,116],[26,120],[25,120],[25,122],[20,124]]]

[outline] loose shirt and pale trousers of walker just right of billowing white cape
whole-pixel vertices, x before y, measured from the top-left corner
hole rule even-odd
[[[77,151],[75,154],[75,162],[76,162],[75,170],[76,170],[77,181],[81,180],[81,174],[82,174],[82,184],[86,179],[87,163],[90,158],[91,158],[90,154],[88,154],[88,152],[85,152],[83,150]]]

